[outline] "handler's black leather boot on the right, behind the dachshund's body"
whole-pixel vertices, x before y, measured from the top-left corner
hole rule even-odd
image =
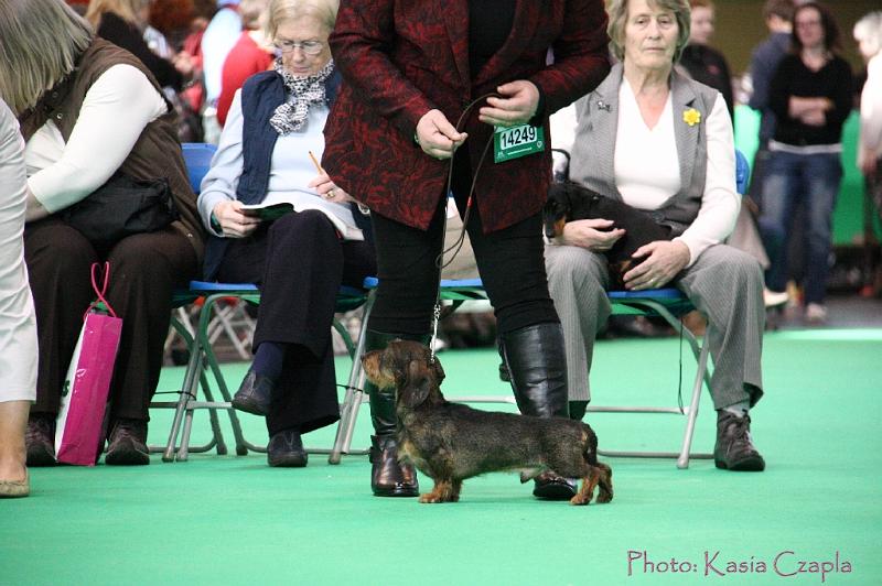
[[[560,324],[536,324],[502,334],[499,355],[521,414],[569,417],[567,355]],[[552,470],[540,474],[535,482],[533,493],[542,499],[576,496],[576,482]]]

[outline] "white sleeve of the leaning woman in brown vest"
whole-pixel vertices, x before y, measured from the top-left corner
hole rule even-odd
[[[86,93],[61,159],[28,180],[34,196],[50,213],[86,197],[110,178],[166,108],[138,68],[114,65]]]

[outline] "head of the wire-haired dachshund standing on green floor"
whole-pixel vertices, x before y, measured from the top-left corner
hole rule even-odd
[[[395,340],[383,350],[362,358],[367,380],[379,389],[395,389],[396,402],[413,409],[427,399],[443,400],[441,381],[444,369],[438,358],[432,361],[429,348],[417,341]]]

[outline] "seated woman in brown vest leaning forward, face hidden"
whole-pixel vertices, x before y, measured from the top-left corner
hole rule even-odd
[[[40,367],[28,423],[28,464],[52,465],[62,387],[95,293],[90,267],[110,263],[106,297],[122,317],[110,383],[107,464],[149,464],[148,405],[159,382],[172,291],[202,258],[202,227],[175,115],[144,65],[94,35],[63,0],[9,2],[0,14],[0,95],[26,142],[24,257],[36,308]],[[26,72],[24,74],[23,72]],[[158,180],[179,219],[144,231],[88,238],[72,224],[108,182]],[[137,194],[136,194],[137,195]],[[112,206],[116,208],[116,206]],[[82,218],[83,211],[77,216]],[[86,213],[88,214],[88,213]],[[77,226],[77,227],[74,227]],[[99,226],[104,229],[105,224]]]

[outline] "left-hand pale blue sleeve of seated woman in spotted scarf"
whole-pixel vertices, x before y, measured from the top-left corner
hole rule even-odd
[[[227,113],[224,131],[217,152],[212,158],[212,169],[205,174],[200,188],[197,205],[205,229],[215,236],[222,236],[212,228],[212,210],[225,199],[236,199],[236,188],[243,170],[241,155],[241,89],[233,96],[233,104]]]

